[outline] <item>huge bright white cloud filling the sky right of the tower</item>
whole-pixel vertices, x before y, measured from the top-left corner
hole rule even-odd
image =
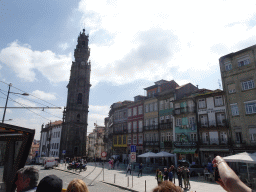
[[[92,85],[212,74],[221,56],[255,44],[255,8],[254,1],[81,0]]]

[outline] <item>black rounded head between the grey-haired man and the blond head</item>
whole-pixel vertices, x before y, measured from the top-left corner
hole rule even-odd
[[[62,187],[62,179],[56,175],[48,175],[39,182],[36,192],[61,192]]]

